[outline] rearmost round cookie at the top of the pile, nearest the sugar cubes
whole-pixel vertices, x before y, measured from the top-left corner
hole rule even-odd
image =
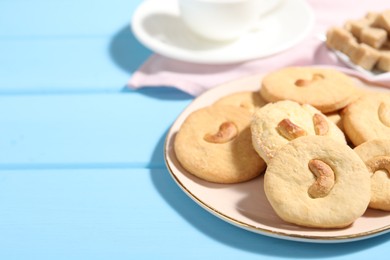
[[[289,99],[310,104],[323,113],[345,107],[359,93],[349,76],[313,67],[288,67],[271,72],[264,77],[260,89],[268,102]]]

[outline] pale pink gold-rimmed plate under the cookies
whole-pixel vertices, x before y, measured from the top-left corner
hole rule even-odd
[[[196,203],[222,220],[255,233],[306,242],[347,242],[384,234],[390,230],[388,212],[368,209],[353,225],[343,229],[304,228],[281,220],[268,203],[263,176],[240,184],[213,184],[189,174],[177,161],[173,142],[184,119],[194,110],[208,106],[224,95],[257,91],[261,75],[254,75],[215,87],[197,97],[176,119],[165,142],[165,161],[179,187]],[[387,91],[379,87],[362,87]]]

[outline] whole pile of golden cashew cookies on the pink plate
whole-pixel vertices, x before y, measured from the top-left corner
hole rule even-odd
[[[283,68],[259,91],[192,112],[174,150],[209,182],[264,173],[275,213],[300,226],[341,228],[367,207],[390,211],[390,94],[363,92],[333,69]]]

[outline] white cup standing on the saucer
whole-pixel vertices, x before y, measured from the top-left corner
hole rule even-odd
[[[255,28],[261,14],[277,1],[179,0],[179,9],[184,23],[195,34],[208,40],[230,41]]]

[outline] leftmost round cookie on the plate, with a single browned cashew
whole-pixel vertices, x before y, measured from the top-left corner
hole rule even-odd
[[[175,137],[180,164],[215,183],[238,183],[260,175],[264,161],[252,147],[251,113],[234,106],[209,106],[192,112]]]

